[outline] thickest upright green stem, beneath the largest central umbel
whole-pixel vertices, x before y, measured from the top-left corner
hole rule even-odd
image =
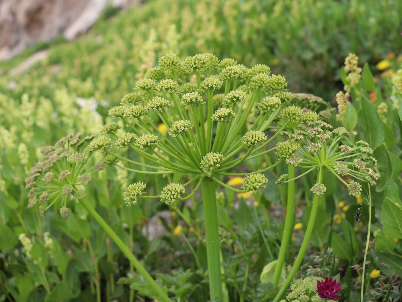
[[[215,196],[215,182],[204,178],[201,182],[204,205],[205,239],[209,274],[209,294],[211,300],[222,302],[221,263],[218,234],[218,215]]]

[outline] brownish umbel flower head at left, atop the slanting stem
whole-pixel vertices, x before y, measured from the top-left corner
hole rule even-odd
[[[106,128],[116,128],[115,125]],[[92,180],[92,175],[106,165],[103,161],[92,162],[93,151],[109,145],[109,139],[94,136],[83,137],[82,133],[68,134],[54,146],[41,149],[43,156],[31,168],[31,176],[25,180],[28,192],[28,207],[37,206],[41,216],[52,205],[60,207],[60,215],[68,217],[67,203],[82,199],[84,187]],[[92,146],[92,147],[89,147]],[[39,205],[38,205],[39,204]]]

